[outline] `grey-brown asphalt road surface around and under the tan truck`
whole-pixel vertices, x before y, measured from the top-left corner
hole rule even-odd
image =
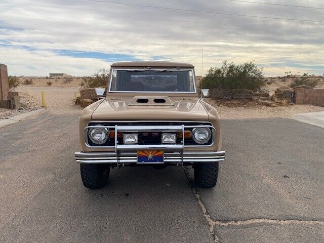
[[[105,188],[85,188],[78,111],[0,129],[0,242],[323,242],[324,129],[284,118],[222,126],[213,189],[180,167],[113,169]]]

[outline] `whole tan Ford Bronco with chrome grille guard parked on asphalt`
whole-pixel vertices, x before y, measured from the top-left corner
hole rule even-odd
[[[103,187],[110,169],[124,166],[192,166],[198,186],[215,186],[225,159],[220,119],[198,97],[194,66],[120,62],[109,77],[107,92],[96,89],[103,98],[80,116],[75,159],[85,187]]]

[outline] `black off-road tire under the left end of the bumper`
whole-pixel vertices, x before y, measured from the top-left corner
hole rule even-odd
[[[85,187],[99,189],[106,185],[110,166],[105,164],[80,164],[82,182]]]

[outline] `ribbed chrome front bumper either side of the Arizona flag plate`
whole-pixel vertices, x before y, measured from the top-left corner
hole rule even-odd
[[[117,155],[118,154],[118,155]],[[80,164],[137,164],[136,152],[94,152],[94,153],[74,153],[75,160]],[[219,152],[169,152],[164,153],[164,162],[160,164],[180,164],[183,165],[201,162],[219,162],[224,161],[225,151]],[[143,164],[143,163],[139,163]],[[157,163],[146,163],[157,164]]]

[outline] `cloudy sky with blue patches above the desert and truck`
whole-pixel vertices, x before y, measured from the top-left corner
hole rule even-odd
[[[204,47],[203,73],[225,60],[254,60],[266,76],[324,73],[322,0],[248,2],[314,8],[231,0],[2,0],[0,63],[16,75],[87,75],[116,61],[166,60],[193,63],[200,74]]]

